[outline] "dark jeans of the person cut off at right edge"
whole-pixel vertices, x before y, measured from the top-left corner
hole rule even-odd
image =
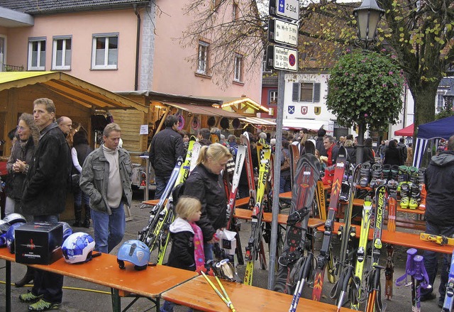
[[[426,233],[443,235],[451,237],[454,234],[453,226],[438,226],[434,223],[426,221]],[[433,251],[424,250],[424,267],[426,267],[428,282],[433,285],[438,270],[438,253]],[[448,282],[448,274],[450,269],[451,254],[443,254],[443,264],[441,267],[440,286],[438,292],[440,293],[440,301],[445,299],[446,283]],[[433,289],[421,289],[421,295],[430,294]]]

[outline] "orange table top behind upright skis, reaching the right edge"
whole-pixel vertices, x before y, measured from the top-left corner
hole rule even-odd
[[[344,225],[344,223],[340,222],[335,222],[334,223],[334,231],[333,233],[337,233],[339,230],[339,226]],[[353,227],[356,228],[356,236],[359,238],[360,237],[360,232],[361,232],[361,227],[360,225],[352,225]],[[319,226],[317,230],[324,230],[323,225]],[[372,240],[374,237],[374,230],[370,229],[369,230],[369,236],[368,239]],[[421,250],[429,250],[433,252],[443,252],[447,254],[452,254],[454,250],[454,246],[441,246],[436,243],[431,243],[431,242],[425,242],[423,240],[419,239],[419,233],[414,234],[414,233],[406,233],[406,232],[389,232],[388,230],[382,230],[382,243],[389,243],[392,245],[399,245],[399,246],[404,246],[404,247],[409,247],[409,248],[416,248],[416,249],[421,249]]]

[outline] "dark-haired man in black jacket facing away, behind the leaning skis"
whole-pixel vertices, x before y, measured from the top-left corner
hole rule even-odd
[[[177,117],[167,116],[164,124],[165,129],[153,137],[150,148],[150,165],[155,169],[155,199],[161,198],[178,157],[184,157],[183,138],[177,133]]]

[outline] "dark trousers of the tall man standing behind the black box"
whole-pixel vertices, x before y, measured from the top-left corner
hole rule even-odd
[[[58,222],[58,215],[33,216],[35,222]],[[55,273],[35,270],[33,288],[31,292],[35,296],[43,295],[43,299],[52,303],[62,303],[63,276]]]

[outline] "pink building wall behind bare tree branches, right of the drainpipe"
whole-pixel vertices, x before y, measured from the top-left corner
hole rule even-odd
[[[216,96],[240,97],[244,94],[260,103],[262,60],[257,60],[255,71],[245,72],[245,74],[251,75],[252,79],[250,79],[251,77],[249,80],[245,79],[243,86],[231,83],[226,90],[221,90],[214,84],[213,79],[197,77],[194,74],[196,61],[187,62],[185,60],[186,57],[196,55],[198,43],[194,43],[193,47],[186,49],[179,46],[177,38],[182,37],[185,26],[192,21],[191,17],[185,16],[180,9],[187,4],[187,1],[157,1],[157,4],[164,13],[156,18],[155,74],[153,77],[155,91],[214,98]],[[233,82],[233,77],[231,77],[231,81]]]

